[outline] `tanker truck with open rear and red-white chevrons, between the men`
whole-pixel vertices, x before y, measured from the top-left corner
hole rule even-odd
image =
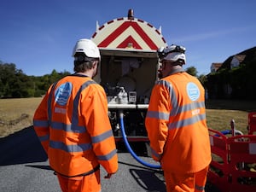
[[[102,26],[97,24],[91,39],[102,55],[95,80],[106,90],[115,140],[122,139],[119,123],[122,112],[127,139],[147,141],[144,118],[158,79],[157,49],[166,46],[160,29],[135,18],[130,9],[127,17],[109,20]]]

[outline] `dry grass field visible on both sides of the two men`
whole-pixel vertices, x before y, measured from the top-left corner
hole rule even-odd
[[[42,97],[0,99],[0,137],[32,125],[32,117]],[[256,111],[256,101],[207,101],[207,125],[215,130],[230,129],[235,119],[236,129],[247,133],[247,113]]]

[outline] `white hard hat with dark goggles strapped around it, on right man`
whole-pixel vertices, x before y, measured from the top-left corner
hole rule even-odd
[[[185,55],[186,48],[183,46],[178,46],[172,44],[166,48],[160,47],[158,49],[158,55],[160,60],[167,60],[167,61],[179,61],[181,64],[186,63],[186,55]]]

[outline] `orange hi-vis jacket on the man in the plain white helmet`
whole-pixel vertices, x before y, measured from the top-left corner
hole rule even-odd
[[[34,114],[33,126],[55,172],[73,177],[100,165],[108,173],[117,172],[107,96],[89,77],[74,74],[53,84]]]

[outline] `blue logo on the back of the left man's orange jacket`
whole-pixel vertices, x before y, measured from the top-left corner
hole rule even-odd
[[[55,90],[55,102],[59,105],[64,106],[67,104],[67,100],[71,95],[72,84],[67,82],[65,84],[61,84],[57,90]]]

